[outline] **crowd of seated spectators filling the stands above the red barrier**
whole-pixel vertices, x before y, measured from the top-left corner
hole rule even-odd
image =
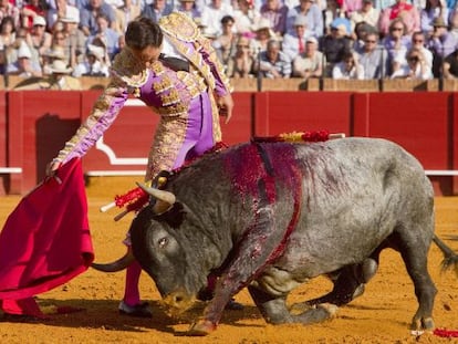
[[[108,76],[132,19],[181,11],[229,77],[455,79],[457,1],[0,0],[0,73]]]

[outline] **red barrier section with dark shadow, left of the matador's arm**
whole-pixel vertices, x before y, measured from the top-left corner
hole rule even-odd
[[[46,164],[81,122],[81,92],[9,92],[11,194],[24,194],[43,180]]]

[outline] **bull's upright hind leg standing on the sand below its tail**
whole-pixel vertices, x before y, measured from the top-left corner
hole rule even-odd
[[[418,310],[412,322],[412,330],[434,330],[433,307],[437,289],[429,275],[427,256],[430,240],[416,234],[399,233],[398,251],[400,252],[407,272],[414,282]]]

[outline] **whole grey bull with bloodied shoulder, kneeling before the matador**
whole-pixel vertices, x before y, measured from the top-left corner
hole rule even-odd
[[[458,269],[457,254],[435,236],[421,165],[385,139],[246,143],[167,175],[163,189],[143,188],[152,197],[129,229],[133,254],[170,312],[189,309],[208,275],[218,275],[192,335],[216,330],[246,286],[268,323],[330,319],[363,293],[385,248],[400,253],[415,285],[412,329],[433,330],[431,242]],[[113,271],[127,261],[94,267]],[[322,274],[332,278],[331,292],[305,300],[300,312],[287,307],[294,288]]]

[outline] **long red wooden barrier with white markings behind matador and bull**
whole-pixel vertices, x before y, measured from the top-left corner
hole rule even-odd
[[[22,174],[9,176],[9,191],[24,194],[42,180],[45,165],[85,119],[100,91],[9,92],[7,102],[1,95],[0,144],[7,132],[8,150],[0,147],[0,166],[23,168]],[[221,123],[222,139],[230,145],[253,135],[327,129],[385,137],[414,154],[426,169],[458,169],[455,93],[238,92],[233,96],[233,117]],[[137,100],[129,100],[103,142],[84,157],[86,173],[143,174],[158,116],[137,105]],[[458,194],[456,177],[431,180],[437,194]]]

